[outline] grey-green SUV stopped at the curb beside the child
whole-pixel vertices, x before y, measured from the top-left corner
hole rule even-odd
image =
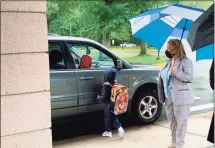
[[[117,69],[117,81],[129,89],[126,115],[140,124],[155,122],[162,111],[157,83],[160,68],[134,65],[105,46],[86,38],[49,36],[49,65],[52,121],[103,111],[97,94],[107,68]],[[89,54],[90,69],[79,69],[82,55]]]

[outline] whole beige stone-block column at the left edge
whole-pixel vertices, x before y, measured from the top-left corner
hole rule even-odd
[[[46,1],[1,1],[1,147],[51,148]]]

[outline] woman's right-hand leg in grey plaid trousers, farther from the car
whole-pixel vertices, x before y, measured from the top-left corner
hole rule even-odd
[[[183,148],[187,133],[187,122],[190,114],[190,105],[173,105],[177,121],[175,148]]]

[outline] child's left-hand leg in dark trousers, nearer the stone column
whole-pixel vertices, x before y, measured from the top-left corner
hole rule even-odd
[[[111,131],[111,112],[109,110],[109,104],[105,103],[104,108],[104,131]]]

